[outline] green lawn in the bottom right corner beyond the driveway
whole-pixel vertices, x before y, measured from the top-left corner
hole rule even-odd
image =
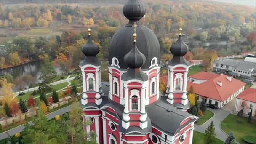
[[[242,120],[242,123],[237,123],[237,120]],[[237,115],[229,114],[222,122],[221,128],[226,133],[233,131],[235,133],[236,140],[240,144],[246,144],[243,141],[245,136],[256,137],[256,120],[252,120],[251,123],[247,123],[247,117],[238,117]]]

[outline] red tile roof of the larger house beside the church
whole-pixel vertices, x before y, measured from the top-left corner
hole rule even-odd
[[[208,75],[211,75],[210,77],[213,77],[203,83],[197,84],[189,82],[187,83],[187,89],[190,88],[191,85],[193,85],[195,93],[201,96],[205,96],[211,99],[216,99],[218,101],[225,101],[229,96],[234,94],[236,91],[238,91],[240,88],[242,88],[245,83],[237,80],[235,78],[232,78],[231,81],[227,79],[227,75],[218,75],[210,72],[203,72],[202,77],[206,77],[206,73]],[[218,77],[216,77],[218,75]],[[202,79],[199,76],[197,76],[198,79]],[[222,86],[218,85],[217,82],[222,82]]]

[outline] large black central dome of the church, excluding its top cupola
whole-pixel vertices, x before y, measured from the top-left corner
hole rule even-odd
[[[109,48],[109,64],[112,63],[112,58],[116,57],[119,61],[121,69],[127,69],[124,61],[124,56],[131,51],[133,47],[133,27],[131,24],[119,29],[112,37]],[[155,34],[144,25],[138,24],[136,28],[137,33],[137,47],[141,53],[146,57],[145,64],[142,69],[149,69],[151,60],[156,57],[158,64],[160,64],[160,45]]]

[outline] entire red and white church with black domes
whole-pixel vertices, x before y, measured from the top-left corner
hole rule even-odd
[[[95,133],[97,144],[192,144],[198,117],[187,112],[187,74],[190,64],[181,33],[168,61],[168,96],[159,92],[160,45],[156,35],[139,21],[146,7],[128,0],[123,7],[129,23],[112,37],[109,48],[109,83],[101,83],[99,47],[91,39],[82,47],[81,107],[85,133]]]

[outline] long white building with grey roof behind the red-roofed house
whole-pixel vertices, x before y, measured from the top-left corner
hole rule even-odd
[[[213,62],[213,72],[256,80],[256,63],[223,58]]]

